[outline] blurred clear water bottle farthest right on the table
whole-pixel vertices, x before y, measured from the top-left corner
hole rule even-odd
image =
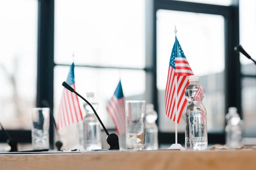
[[[241,119],[235,107],[228,109],[226,114],[227,126],[226,132],[226,146],[230,148],[239,148],[243,146],[242,143],[242,128]]]

